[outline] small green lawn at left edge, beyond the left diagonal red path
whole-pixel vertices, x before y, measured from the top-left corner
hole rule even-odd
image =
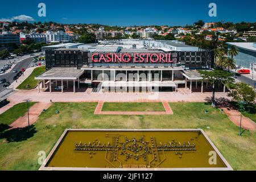
[[[29,106],[31,107],[36,102],[30,102]],[[14,105],[5,113],[0,114],[0,124],[10,125],[19,117],[22,117],[27,112],[27,103],[22,102],[20,104]]]

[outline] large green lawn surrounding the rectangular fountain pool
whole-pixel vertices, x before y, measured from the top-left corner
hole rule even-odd
[[[46,155],[67,128],[73,129],[203,129],[236,170],[256,170],[256,134],[238,127],[219,109],[204,103],[170,103],[174,115],[94,115],[97,103],[55,103],[40,115],[35,130],[20,142],[0,134],[0,170],[37,170],[38,152]],[[56,110],[60,114],[55,114]],[[128,109],[128,108],[127,108]],[[208,109],[209,114],[204,113]],[[6,132],[6,131],[5,131]],[[19,136],[16,136],[17,138]]]

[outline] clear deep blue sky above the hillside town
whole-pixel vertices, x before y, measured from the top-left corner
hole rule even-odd
[[[43,18],[38,16],[40,2],[46,3],[47,8],[46,17]],[[211,2],[217,5],[217,17],[208,15],[208,5]],[[183,26],[193,24],[199,19],[205,22],[256,22],[255,0],[13,0],[1,1],[0,5],[0,20],[23,18],[41,22],[100,23],[111,26]]]

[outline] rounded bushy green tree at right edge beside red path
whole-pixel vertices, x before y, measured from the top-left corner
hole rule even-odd
[[[255,101],[256,94],[254,89],[244,82],[239,82],[234,84],[234,89],[228,93],[229,97],[233,97],[233,100],[237,102],[246,102],[248,104],[253,104]]]

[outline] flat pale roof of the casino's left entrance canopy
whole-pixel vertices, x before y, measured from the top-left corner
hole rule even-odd
[[[84,70],[77,68],[51,68],[35,77],[35,80],[76,80],[82,73]]]

